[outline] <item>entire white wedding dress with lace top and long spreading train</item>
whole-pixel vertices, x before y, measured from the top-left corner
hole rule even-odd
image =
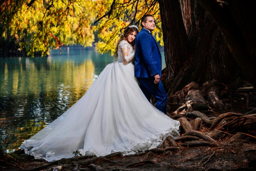
[[[71,158],[74,151],[135,154],[158,147],[164,135],[178,138],[179,121],[156,109],[142,93],[130,62],[134,55],[133,47],[121,41],[118,61],[108,64],[81,99],[20,148],[51,162]]]

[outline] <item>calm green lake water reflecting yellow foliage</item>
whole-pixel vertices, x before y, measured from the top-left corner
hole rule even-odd
[[[0,145],[19,147],[80,99],[111,62],[109,54],[78,46],[48,57],[0,58]]]

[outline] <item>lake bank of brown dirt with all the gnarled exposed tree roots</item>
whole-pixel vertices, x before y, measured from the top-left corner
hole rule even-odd
[[[213,91],[214,90],[214,91]],[[16,151],[1,158],[6,170],[250,170],[256,168],[256,110],[246,110],[246,95],[216,80],[190,83],[169,97],[167,115],[181,122],[181,137],[167,137],[161,148],[143,154],[79,156],[48,163]],[[250,94],[255,103],[255,92]],[[176,102],[173,102],[175,101]],[[179,101],[179,103],[177,103]]]

